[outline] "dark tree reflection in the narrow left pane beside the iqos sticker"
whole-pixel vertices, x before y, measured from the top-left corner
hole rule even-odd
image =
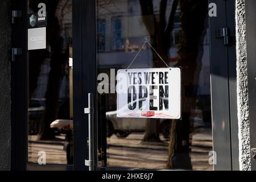
[[[55,133],[50,128],[50,123],[57,119],[59,112],[59,94],[60,85],[63,76],[65,75],[65,63],[68,61],[68,46],[67,43],[71,43],[71,38],[67,38],[67,35],[63,33],[63,23],[64,26],[67,23],[67,18],[62,18],[60,22],[59,14],[67,15],[65,11],[68,11],[68,15],[72,15],[72,0],[60,0],[60,1],[30,1],[29,9],[36,13],[38,11],[38,4],[40,2],[46,3],[47,6],[47,49],[33,50],[28,54],[28,64],[29,64],[29,98],[31,98],[32,93],[36,89],[38,77],[40,74],[40,67],[42,66],[44,60],[50,60],[50,72],[48,75],[47,91],[46,91],[46,103],[44,114],[42,115],[38,139],[53,139],[55,138]],[[62,12],[62,13],[61,13]],[[68,16],[67,15],[67,16]],[[70,21],[69,21],[70,20]],[[68,22],[71,22],[72,16],[69,17]],[[65,22],[64,22],[65,21]],[[69,28],[72,28],[69,27]],[[72,34],[71,34],[72,35]],[[68,40],[68,41],[67,41]],[[61,118],[68,119],[68,118]]]

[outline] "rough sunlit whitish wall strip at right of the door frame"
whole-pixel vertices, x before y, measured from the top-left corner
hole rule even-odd
[[[240,170],[250,170],[250,126],[247,86],[245,0],[236,0],[237,106]]]

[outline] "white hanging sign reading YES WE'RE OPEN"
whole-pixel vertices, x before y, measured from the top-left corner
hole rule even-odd
[[[180,119],[180,69],[119,69],[117,117]]]

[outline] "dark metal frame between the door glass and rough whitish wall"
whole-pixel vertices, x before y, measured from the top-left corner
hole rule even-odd
[[[210,17],[210,78],[212,97],[214,170],[239,170],[235,1],[209,0],[216,3],[217,17]],[[228,28],[229,44],[216,38],[216,30]]]

